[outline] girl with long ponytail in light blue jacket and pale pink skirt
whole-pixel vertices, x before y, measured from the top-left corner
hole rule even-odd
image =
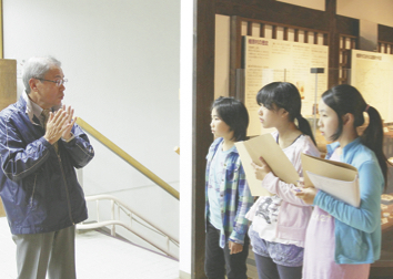
[[[370,264],[381,252],[381,195],[387,164],[382,151],[383,130],[379,112],[347,84],[322,94],[319,126],[328,145],[326,158],[357,168],[360,207],[353,207],[314,187],[296,195],[314,205],[305,237],[303,279],[366,279]],[[370,124],[360,136],[363,112]]]

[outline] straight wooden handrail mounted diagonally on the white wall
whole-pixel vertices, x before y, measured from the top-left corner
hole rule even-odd
[[[127,152],[124,152],[122,148],[120,148],[118,145],[115,145],[113,142],[111,142],[108,137],[105,137],[100,132],[98,132],[95,128],[90,126],[85,121],[78,117],[77,124],[79,126],[81,126],[81,128],[83,128],[87,133],[89,133],[97,141],[99,141],[104,146],[107,146],[110,151],[112,151],[114,154],[117,154],[119,157],[121,157],[127,163],[129,163],[131,166],[137,168],[140,173],[142,173],[144,176],[147,176],[150,180],[154,182],[161,188],[163,188],[169,194],[171,194],[174,198],[180,199],[180,195],[179,195],[178,190],[175,190],[172,186],[170,186],[168,183],[165,183],[160,177],[158,177],[154,173],[149,170],[145,166],[143,166],[137,159],[131,157]]]

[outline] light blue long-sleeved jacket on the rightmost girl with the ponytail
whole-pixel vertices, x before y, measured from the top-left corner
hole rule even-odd
[[[326,158],[339,146],[337,142],[328,145]],[[374,152],[364,146],[359,137],[344,146],[341,162],[357,168],[360,207],[353,207],[323,190],[316,194],[314,205],[335,218],[335,262],[372,264],[381,255],[381,195],[385,180]]]

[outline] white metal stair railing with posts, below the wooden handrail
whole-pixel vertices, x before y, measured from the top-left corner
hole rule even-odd
[[[104,221],[100,220],[99,202],[102,199],[111,200],[111,220],[104,220]],[[115,236],[115,225],[120,225],[120,226],[127,228],[128,230],[130,230],[131,232],[133,232],[134,235],[137,235],[138,237],[140,237],[141,239],[143,239],[144,241],[149,242],[150,245],[152,245],[153,247],[155,247],[160,251],[178,259],[178,256],[174,252],[172,252],[170,249],[170,242],[172,242],[179,247],[179,239],[171,236],[171,234],[165,231],[164,229],[158,228],[155,225],[152,225],[151,221],[149,221],[147,218],[141,217],[141,215],[139,215],[134,209],[131,209],[130,206],[125,205],[117,197],[111,196],[111,195],[97,195],[97,196],[88,196],[88,197],[85,197],[85,200],[87,202],[93,202],[93,200],[97,202],[97,223],[78,224],[77,229],[95,229],[95,228],[112,226],[111,227],[111,235]],[[115,216],[115,206],[118,206],[118,216]],[[130,225],[120,220],[120,209],[123,210],[130,217]],[[150,227],[138,221],[133,216],[137,216],[139,219],[141,219],[143,223],[145,223]],[[142,236],[142,232],[138,231],[138,228],[132,227],[133,221],[138,221],[140,225],[144,226],[145,228],[149,228],[149,229],[153,228],[153,229],[151,229],[152,231],[165,237],[167,246],[160,244],[160,241],[158,241],[157,238],[148,239],[147,237]]]

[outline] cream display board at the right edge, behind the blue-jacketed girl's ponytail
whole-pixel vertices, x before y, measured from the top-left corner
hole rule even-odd
[[[384,122],[393,122],[393,55],[351,50],[350,84],[374,106]]]

